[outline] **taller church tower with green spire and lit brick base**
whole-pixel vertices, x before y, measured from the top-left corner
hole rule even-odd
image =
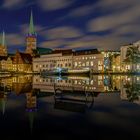
[[[33,50],[36,49],[37,34],[34,29],[33,14],[31,11],[29,33],[26,36],[26,53],[33,54]]]

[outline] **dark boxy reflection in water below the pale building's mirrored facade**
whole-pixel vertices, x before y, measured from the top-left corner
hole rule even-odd
[[[84,113],[86,109],[92,108],[94,103],[94,94],[85,91],[65,91],[54,86],[54,108],[72,112]]]

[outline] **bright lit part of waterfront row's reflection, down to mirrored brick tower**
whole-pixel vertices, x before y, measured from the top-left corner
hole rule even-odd
[[[41,77],[40,75],[20,75],[0,79],[1,95],[25,95],[26,109],[37,109],[37,99],[53,96],[55,89],[66,95],[85,95],[85,92],[98,96],[100,93],[118,92],[121,99],[138,103],[140,76],[92,75],[91,77]],[[63,95],[63,96],[64,96]],[[133,96],[134,99],[131,97]],[[137,97],[138,96],[138,97]],[[132,99],[131,99],[132,98]]]

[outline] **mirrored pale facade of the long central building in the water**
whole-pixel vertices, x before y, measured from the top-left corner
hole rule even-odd
[[[113,77],[114,79],[116,77]],[[116,87],[116,90],[119,90],[118,83],[112,85],[112,77],[110,76],[104,76],[104,75],[94,75],[92,77],[54,77],[54,78],[43,78],[38,75],[35,75],[33,77],[33,88],[34,89],[40,89],[41,91],[48,91],[48,92],[54,92],[54,83],[57,87],[59,87],[62,90],[74,90],[77,91],[83,91],[86,89],[86,91],[91,92],[107,92],[115,90],[113,89]],[[119,84],[120,85],[120,84]]]

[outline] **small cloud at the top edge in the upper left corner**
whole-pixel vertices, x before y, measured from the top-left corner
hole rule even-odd
[[[17,6],[21,6],[26,2],[26,0],[4,0],[3,3],[3,8],[6,9],[13,9],[13,8],[17,8]]]

